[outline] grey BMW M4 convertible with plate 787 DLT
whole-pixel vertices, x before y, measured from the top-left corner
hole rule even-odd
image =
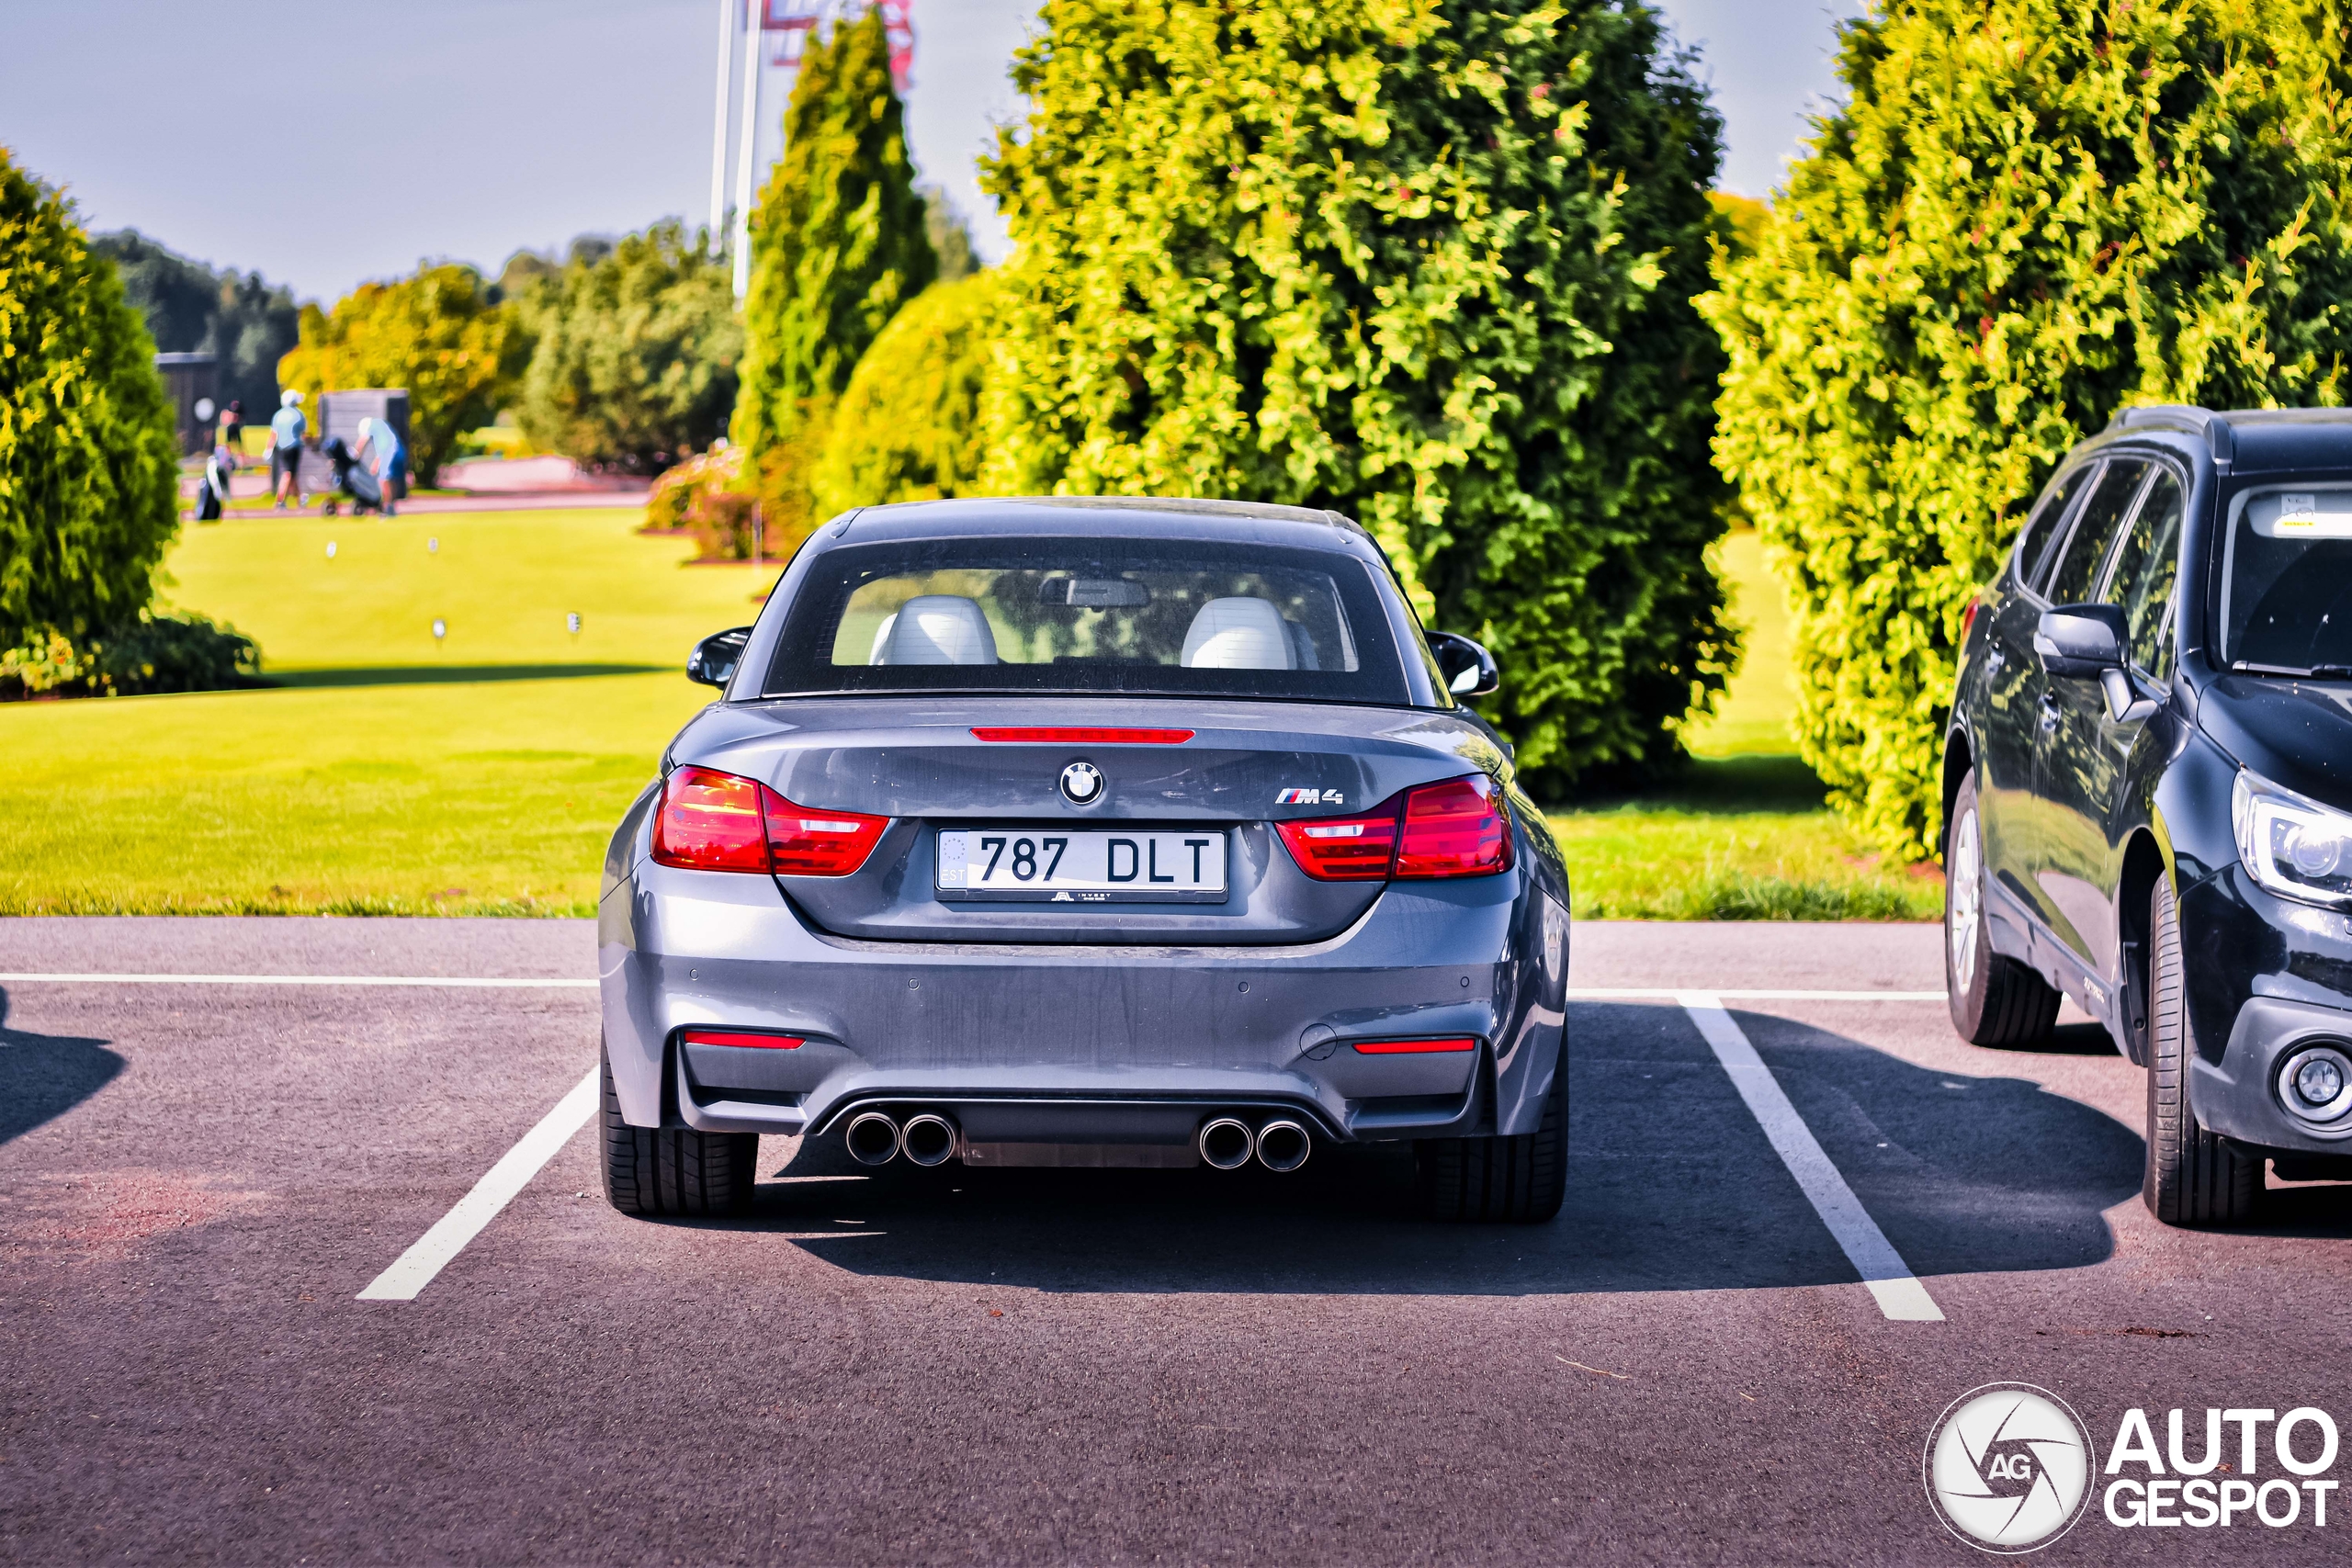
[[[604,1190],[880,1166],[1296,1171],[1430,1213],[1566,1182],[1569,879],[1510,748],[1336,512],[931,501],[828,522],[604,858]]]

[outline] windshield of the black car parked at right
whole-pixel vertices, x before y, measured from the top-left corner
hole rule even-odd
[[[2241,491],[2220,574],[2225,663],[2352,672],[2352,487]]]

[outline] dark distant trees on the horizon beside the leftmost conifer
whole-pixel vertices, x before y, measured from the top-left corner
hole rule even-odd
[[[219,404],[235,397],[252,423],[278,411],[278,360],[296,343],[299,306],[261,273],[212,270],[136,228],[92,235],[89,249],[122,275],[122,294],[146,317],[162,353],[219,357]]]

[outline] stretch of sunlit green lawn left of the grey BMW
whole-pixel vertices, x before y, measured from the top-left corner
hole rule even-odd
[[[710,696],[687,649],[774,574],[684,567],[635,524],[183,529],[169,604],[235,623],[285,686],[0,708],[0,912],[590,912],[612,823]]]

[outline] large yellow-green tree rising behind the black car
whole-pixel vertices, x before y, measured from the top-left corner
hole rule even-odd
[[[1879,0],[1759,249],[1703,301],[1717,461],[1797,611],[1799,745],[1924,853],[1959,614],[2129,402],[2340,402],[2333,0]]]

